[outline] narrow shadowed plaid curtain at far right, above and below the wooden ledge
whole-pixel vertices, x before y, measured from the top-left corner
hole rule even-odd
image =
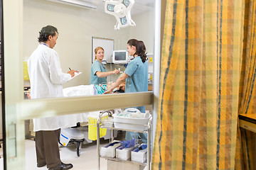
[[[239,114],[256,113],[256,1],[245,0],[244,43],[240,78]],[[256,135],[238,128],[235,169],[256,169]]]

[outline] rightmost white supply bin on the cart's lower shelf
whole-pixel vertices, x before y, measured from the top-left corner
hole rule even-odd
[[[146,162],[147,148],[142,147],[142,145],[139,145],[132,150],[132,161],[142,163]]]

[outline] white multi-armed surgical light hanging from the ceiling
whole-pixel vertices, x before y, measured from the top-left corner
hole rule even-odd
[[[127,26],[136,26],[132,20],[131,9],[134,5],[134,0],[105,0],[105,13],[109,13],[117,19],[115,30]]]

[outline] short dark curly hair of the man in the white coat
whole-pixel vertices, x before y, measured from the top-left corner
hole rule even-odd
[[[56,33],[58,30],[54,26],[45,26],[39,32],[38,42],[46,42],[50,35],[54,37]]]

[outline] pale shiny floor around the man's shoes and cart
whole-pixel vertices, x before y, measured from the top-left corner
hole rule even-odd
[[[124,135],[118,135],[117,140],[122,140]],[[109,140],[100,140],[101,145],[105,145]],[[26,170],[47,170],[46,166],[42,168],[36,167],[36,148],[33,140],[25,140],[26,147]],[[0,148],[0,170],[3,168],[3,152]],[[68,147],[60,146],[60,159],[64,163],[73,164],[72,170],[97,170],[97,146],[96,141],[82,145],[80,149],[80,157],[76,154],[76,145],[69,145]],[[145,168],[146,169],[146,168]],[[100,170],[107,170],[107,160],[100,159]],[[114,169],[115,170],[115,169]],[[121,170],[121,169],[120,169]]]

